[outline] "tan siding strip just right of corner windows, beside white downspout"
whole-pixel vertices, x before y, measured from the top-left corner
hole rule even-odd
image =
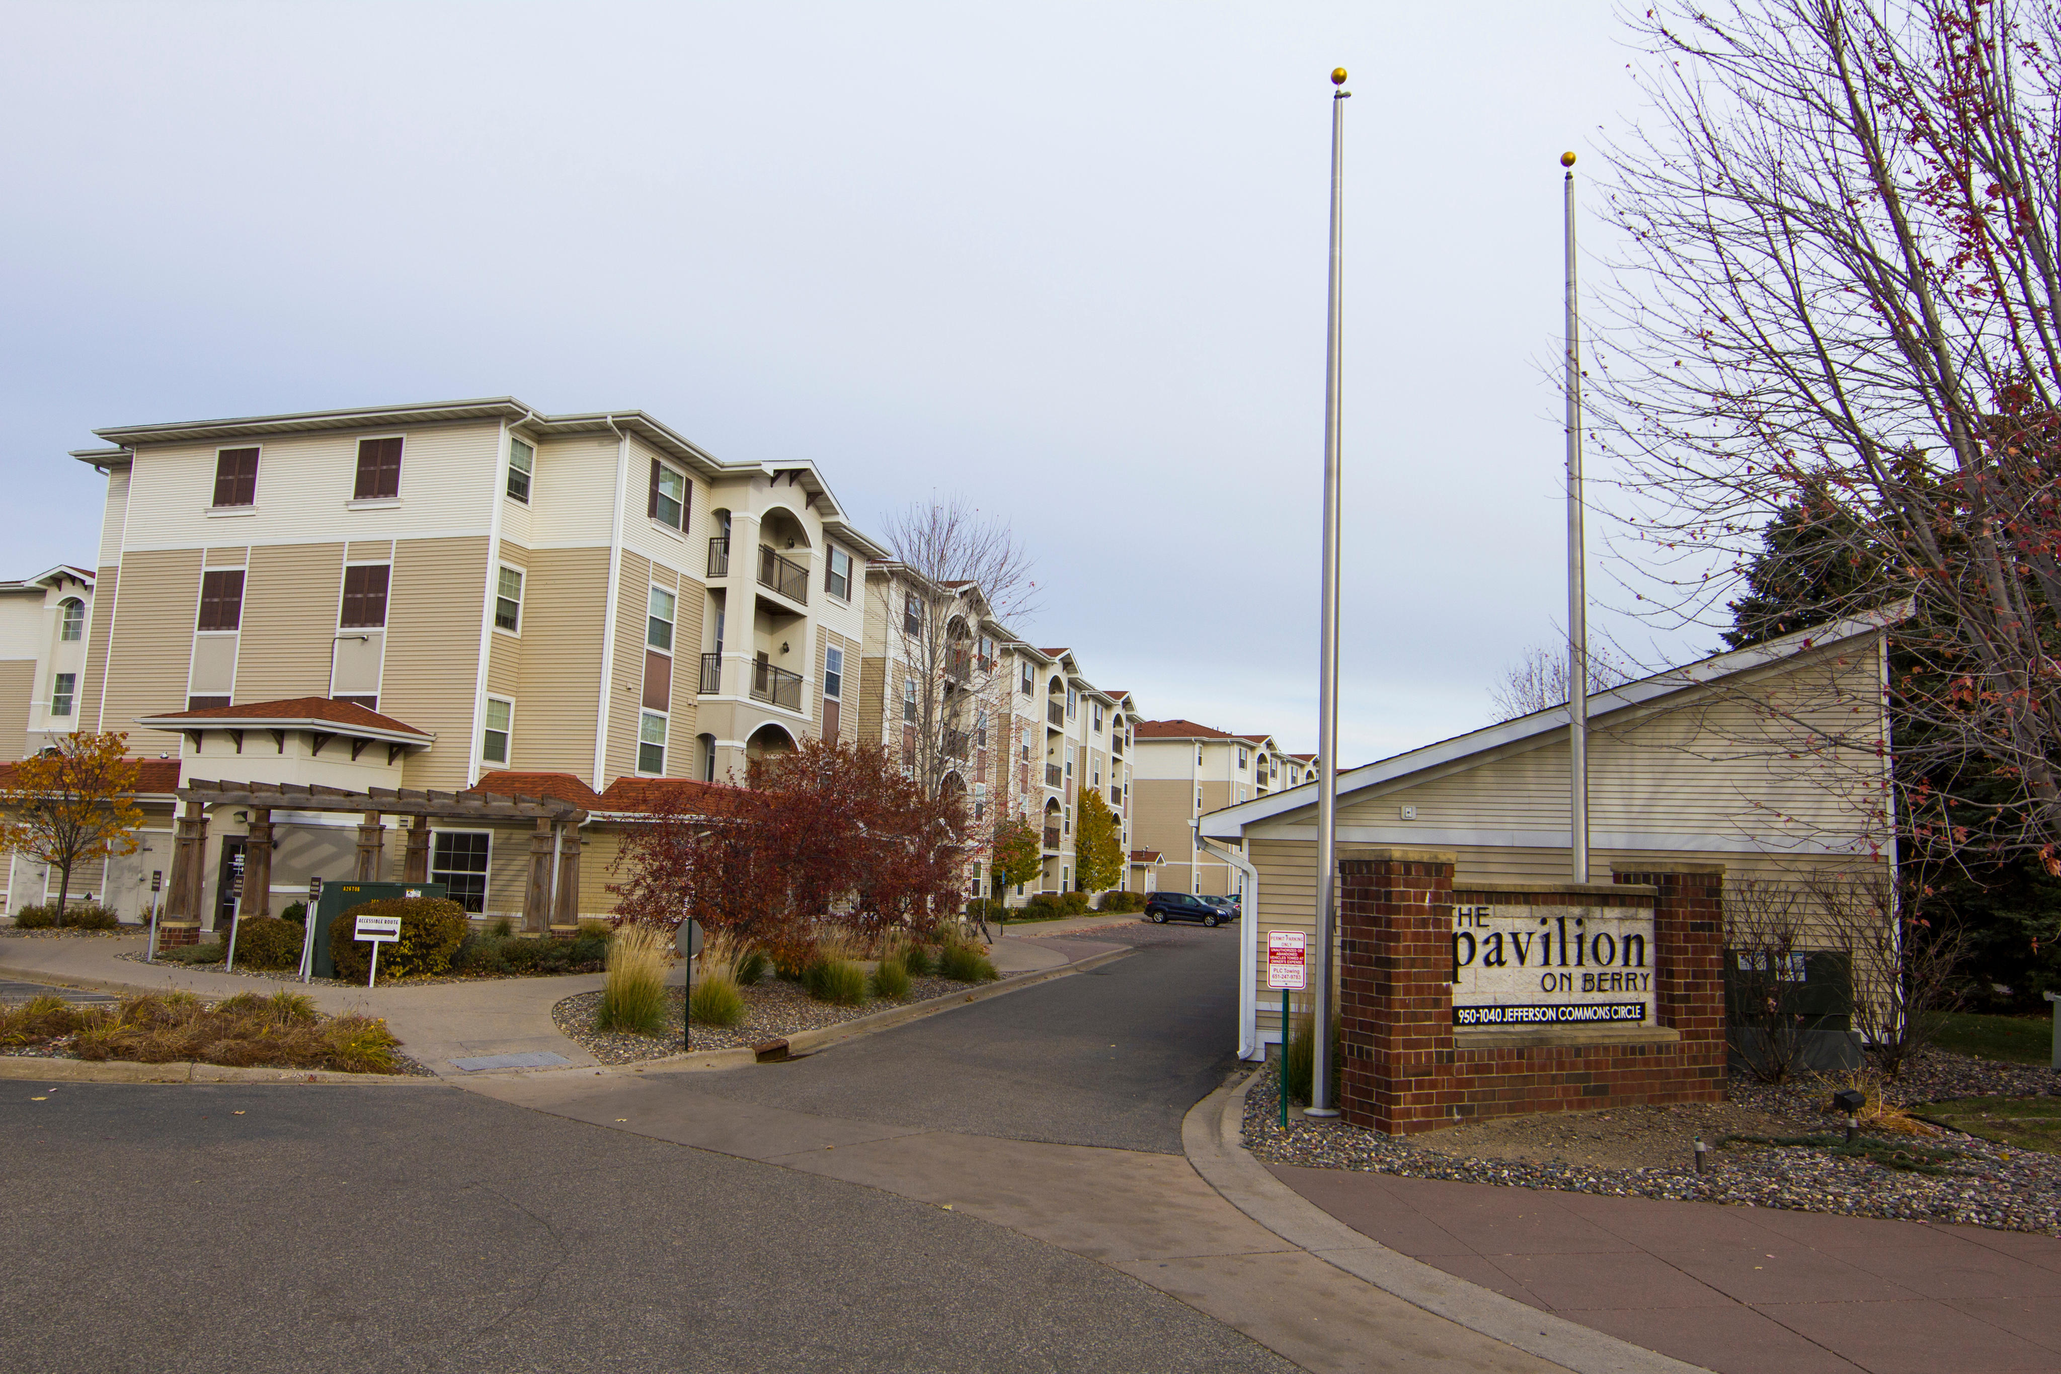
[[[517,719],[509,766],[571,772],[594,785],[608,550],[532,550],[521,614],[521,674],[513,688]]]

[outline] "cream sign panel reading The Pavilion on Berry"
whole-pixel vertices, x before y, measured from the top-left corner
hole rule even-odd
[[[1455,906],[1455,1026],[1651,1026],[1651,906]]]

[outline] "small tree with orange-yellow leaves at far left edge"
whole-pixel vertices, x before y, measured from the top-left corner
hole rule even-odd
[[[0,770],[0,851],[58,869],[60,919],[74,867],[140,845],[136,760],[126,750],[126,733],[76,733]]]

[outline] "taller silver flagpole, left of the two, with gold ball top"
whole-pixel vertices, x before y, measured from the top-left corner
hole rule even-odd
[[[1331,1102],[1331,941],[1338,929],[1338,505],[1340,315],[1344,305],[1346,68],[1331,72],[1331,299],[1323,360],[1323,626],[1317,653],[1317,978],[1311,997],[1309,1117]],[[1282,1053],[1288,1028],[1282,1026]]]

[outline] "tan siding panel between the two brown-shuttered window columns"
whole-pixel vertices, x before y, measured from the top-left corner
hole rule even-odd
[[[251,550],[237,649],[239,702],[330,694],[342,566],[342,544],[264,544]]]

